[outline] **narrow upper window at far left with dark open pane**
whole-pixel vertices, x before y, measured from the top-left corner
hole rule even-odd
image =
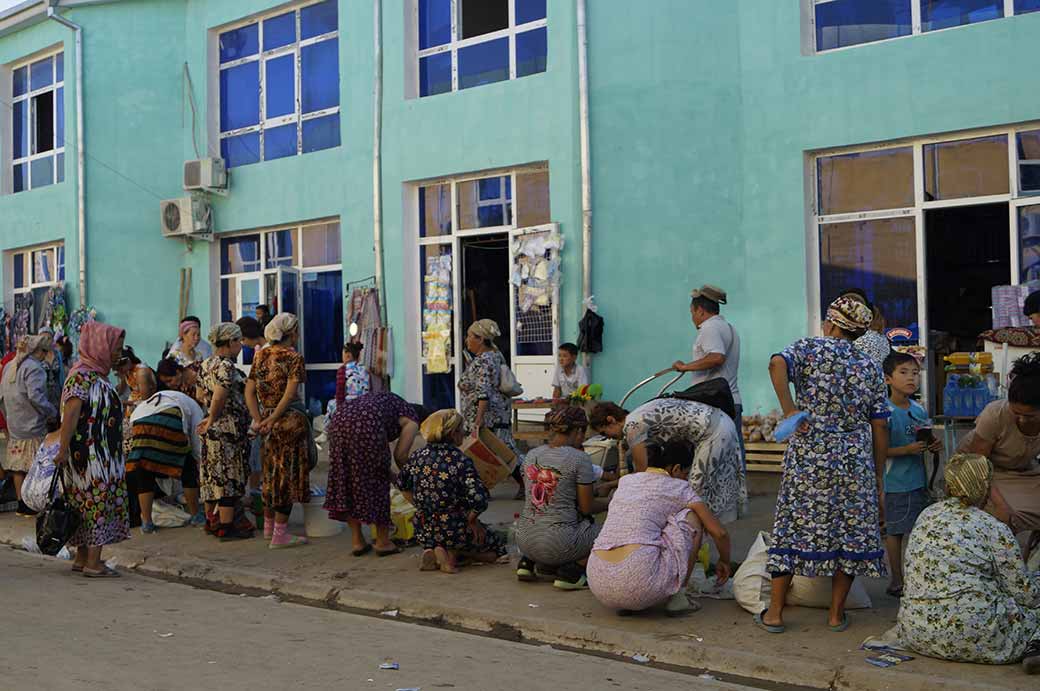
[[[11,70],[11,191],[64,181],[64,53]]]

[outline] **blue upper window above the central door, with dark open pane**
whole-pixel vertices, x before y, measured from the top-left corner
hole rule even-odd
[[[545,72],[546,0],[416,4],[420,97]]]

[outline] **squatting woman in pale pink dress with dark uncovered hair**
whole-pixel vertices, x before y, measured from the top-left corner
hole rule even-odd
[[[624,476],[589,558],[589,588],[603,606],[621,613],[665,603],[670,616],[694,610],[686,584],[701,548],[702,527],[719,554],[719,585],[730,575],[729,534],[694,492],[686,477],[690,447],[676,442],[647,446],[646,472]]]

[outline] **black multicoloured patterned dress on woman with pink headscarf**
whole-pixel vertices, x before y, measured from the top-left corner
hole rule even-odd
[[[122,542],[130,537],[126,462],[123,457],[123,404],[107,378],[74,372],[61,393],[62,408],[80,399],[76,431],[64,466],[64,494],[83,522],[70,547]]]

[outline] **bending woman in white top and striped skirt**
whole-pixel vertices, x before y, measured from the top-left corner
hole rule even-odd
[[[155,375],[147,367],[137,373],[135,404],[123,433],[130,439],[127,451],[127,482],[140,504],[140,532],[156,532],[152,506],[159,478],[179,480],[191,526],[206,518],[199,510],[199,459],[202,447],[196,426],[202,420],[199,404],[180,391],[156,392]]]

